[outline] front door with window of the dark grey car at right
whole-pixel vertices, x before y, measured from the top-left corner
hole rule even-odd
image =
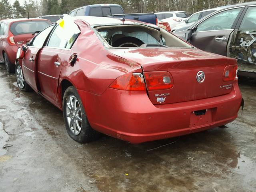
[[[207,18],[196,26],[189,43],[204,51],[227,56],[228,38],[242,10],[243,8],[225,10]]]

